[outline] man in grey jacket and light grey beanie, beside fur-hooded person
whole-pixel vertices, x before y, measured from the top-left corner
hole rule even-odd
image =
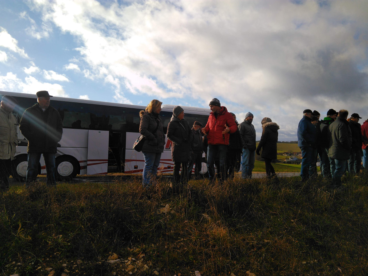
[[[241,141],[243,142],[243,156],[241,160],[241,177],[252,178],[255,161],[255,129],[252,125],[253,114],[245,114],[244,121],[238,125]]]

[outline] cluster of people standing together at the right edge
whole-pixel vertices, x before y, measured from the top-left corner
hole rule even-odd
[[[316,175],[316,161],[319,155],[323,177],[332,179],[332,185],[339,187],[346,170],[350,174],[360,172],[361,156],[367,170],[368,120],[361,126],[357,113],[348,118],[347,110],[336,112],[329,109],[326,117],[305,109],[298,125],[298,146],[302,152],[300,175],[302,181]]]

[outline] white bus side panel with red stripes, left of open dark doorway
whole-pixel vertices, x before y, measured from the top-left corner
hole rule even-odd
[[[109,131],[88,130],[87,174],[107,174]]]

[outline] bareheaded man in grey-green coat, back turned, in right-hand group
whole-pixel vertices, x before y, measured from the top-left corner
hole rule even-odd
[[[330,146],[328,157],[335,160],[336,168],[332,175],[332,184],[335,187],[341,185],[341,177],[344,174],[346,161],[350,157],[351,130],[347,121],[347,110],[340,110],[339,114],[328,128]]]

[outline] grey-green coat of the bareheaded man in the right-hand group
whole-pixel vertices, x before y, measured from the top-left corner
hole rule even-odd
[[[347,120],[337,117],[328,128],[330,146],[328,157],[337,160],[348,160],[351,149],[351,130]]]

